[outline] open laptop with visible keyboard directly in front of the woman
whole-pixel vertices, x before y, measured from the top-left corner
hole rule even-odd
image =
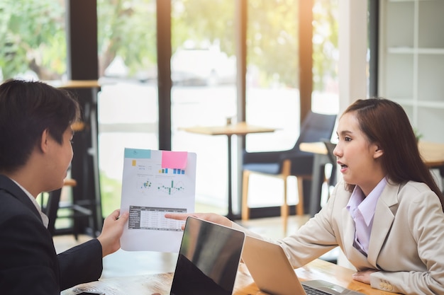
[[[246,236],[242,259],[257,287],[268,294],[363,295],[323,280],[300,282],[284,249],[277,243]]]

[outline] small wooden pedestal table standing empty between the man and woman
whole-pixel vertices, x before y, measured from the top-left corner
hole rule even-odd
[[[192,132],[196,134],[206,135],[226,135],[228,138],[228,214],[229,219],[233,219],[233,198],[231,188],[231,137],[233,135],[245,136],[250,133],[265,133],[274,132],[276,129],[268,127],[260,127],[255,125],[249,125],[247,122],[238,122],[226,126],[210,126],[210,127],[186,127],[179,128],[181,130]]]

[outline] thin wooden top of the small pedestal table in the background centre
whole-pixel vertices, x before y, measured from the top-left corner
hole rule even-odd
[[[207,135],[246,135],[250,133],[274,132],[276,129],[249,125],[246,122],[233,123],[226,126],[196,126],[179,128],[187,132]]]

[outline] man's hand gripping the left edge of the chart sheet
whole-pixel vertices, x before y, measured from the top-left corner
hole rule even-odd
[[[116,252],[121,248],[121,236],[123,227],[128,221],[128,212],[119,216],[120,210],[116,209],[109,214],[104,221],[104,227],[101,230],[100,236],[97,240],[101,243],[102,257]]]

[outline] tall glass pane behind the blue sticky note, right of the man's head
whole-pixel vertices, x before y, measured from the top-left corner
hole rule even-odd
[[[158,148],[156,1],[97,1],[103,214],[120,207],[123,151]]]

